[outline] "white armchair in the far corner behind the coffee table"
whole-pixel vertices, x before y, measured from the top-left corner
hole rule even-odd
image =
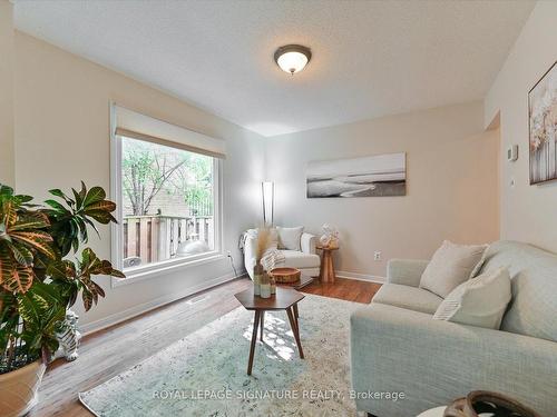
[[[284,261],[275,265],[280,267],[297,268],[303,274],[312,277],[319,276],[321,259],[316,255],[317,237],[303,232],[300,239],[301,250],[278,249],[284,255]],[[247,230],[244,242],[244,265],[250,278],[253,279],[253,267],[255,266],[255,249],[257,246],[256,231]]]

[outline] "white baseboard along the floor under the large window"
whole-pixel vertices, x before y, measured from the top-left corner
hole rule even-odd
[[[153,310],[155,308],[162,307],[164,305],[167,305],[169,302],[179,300],[180,298],[188,297],[193,294],[203,291],[205,289],[209,289],[212,287],[215,287],[217,285],[231,281],[236,278],[241,278],[246,275],[245,270],[241,270],[241,274],[235,276],[233,272],[223,275],[221,277],[211,279],[208,281],[202,282],[199,285],[193,286],[185,288],[180,292],[175,292],[175,294],[168,294],[158,298],[155,298],[150,301],[134,306],[131,308],[128,308],[127,310],[118,311],[115,312],[114,315],[107,316],[101,318],[100,320],[91,321],[86,325],[79,326],[79,331],[81,335],[89,335],[95,331],[102,330],[107,327],[117,325],[118,322],[121,322],[124,320],[128,320],[133,317],[139,316],[144,312],[147,312],[149,310]]]

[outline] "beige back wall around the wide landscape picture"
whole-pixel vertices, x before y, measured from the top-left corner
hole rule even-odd
[[[271,138],[276,224],[314,232],[324,222],[338,226],[338,269],[355,277],[383,277],[390,258],[429,258],[446,238],[496,240],[499,138],[482,123],[475,102]],[[405,197],[305,197],[307,161],[399,151],[407,152]],[[375,250],[382,261],[373,261]]]

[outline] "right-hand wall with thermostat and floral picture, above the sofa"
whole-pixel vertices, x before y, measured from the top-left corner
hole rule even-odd
[[[486,97],[485,125],[500,111],[501,149],[519,159],[501,163],[501,238],[557,251],[557,182],[530,186],[528,91],[557,60],[557,1],[539,1]],[[515,187],[511,187],[511,180]]]

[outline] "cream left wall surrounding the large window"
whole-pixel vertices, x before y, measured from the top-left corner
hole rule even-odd
[[[241,267],[237,239],[261,216],[260,181],[264,169],[264,140],[223,119],[179,101],[25,33],[16,33],[16,177],[19,192],[47,198],[50,188],[99,185],[109,189],[109,101],[137,109],[208,136],[225,139],[224,249]],[[110,257],[110,234],[102,241],[91,235],[99,256]],[[97,308],[82,315],[82,325],[123,317],[158,301],[232,277],[227,259],[164,277],[111,289]],[[124,311],[124,314],[123,314]],[[100,322],[97,322],[97,325]]]

